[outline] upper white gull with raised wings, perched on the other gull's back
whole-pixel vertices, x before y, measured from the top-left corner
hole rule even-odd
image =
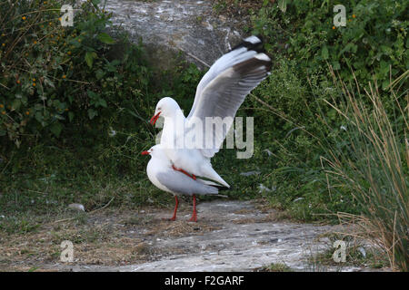
[[[222,146],[245,96],[270,74],[271,66],[260,38],[250,36],[205,73],[187,118],[172,98],[163,98],[156,104],[151,123],[155,124],[159,117],[165,118],[160,144],[173,169],[191,179],[211,179],[230,188],[214,171],[210,159]],[[213,123],[206,125],[209,118]],[[186,146],[189,141],[195,146]]]

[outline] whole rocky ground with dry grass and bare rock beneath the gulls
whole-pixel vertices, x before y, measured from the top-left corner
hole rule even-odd
[[[137,212],[106,208],[44,224],[24,236],[1,241],[0,269],[36,271],[254,271],[271,264],[292,270],[363,270],[314,264],[330,246],[334,226],[294,223],[254,201],[214,200],[198,205],[188,222],[184,202],[175,222],[172,209]],[[74,243],[74,261],[61,262],[60,244]]]

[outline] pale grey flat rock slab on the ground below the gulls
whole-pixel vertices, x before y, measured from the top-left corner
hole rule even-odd
[[[294,270],[313,271],[308,263],[318,251],[328,248],[322,236],[334,226],[298,224],[277,219],[272,209],[261,210],[250,201],[215,200],[198,205],[198,222],[187,222],[190,212],[182,212],[173,223],[180,235],[159,230],[154,236],[144,227],[132,230],[152,249],[152,261],[127,266],[53,266],[62,271],[253,271],[272,263],[284,263]],[[169,210],[141,213],[155,222],[170,217]],[[152,219],[154,218],[154,219]],[[165,222],[164,222],[165,223]],[[160,225],[158,225],[160,227]],[[189,227],[187,231],[184,231]],[[354,267],[319,270],[360,270]]]

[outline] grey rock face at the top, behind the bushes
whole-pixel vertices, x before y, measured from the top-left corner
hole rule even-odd
[[[242,39],[242,19],[226,19],[213,12],[211,1],[107,0],[113,23],[122,26],[162,62],[166,53],[182,52],[200,67],[211,65]],[[163,56],[165,55],[165,56]],[[166,56],[167,55],[167,56]]]

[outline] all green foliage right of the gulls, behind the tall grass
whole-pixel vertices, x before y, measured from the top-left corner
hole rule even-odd
[[[266,197],[275,207],[289,209],[294,218],[357,214],[364,207],[356,203],[351,189],[327,189],[322,157],[328,149],[345,151],[351,146],[344,140],[346,121],[326,103],[344,98],[329,66],[344,82],[364,85],[375,79],[383,90],[409,67],[406,2],[343,2],[345,27],[334,27],[337,4],[264,1],[252,16],[253,34],[264,36],[264,47],[275,65],[244,105],[255,118],[254,131],[259,132],[255,140],[276,160],[265,174],[276,190]],[[402,88],[397,100],[405,107],[404,84]],[[395,128],[403,133],[397,103],[389,93],[381,95]]]

